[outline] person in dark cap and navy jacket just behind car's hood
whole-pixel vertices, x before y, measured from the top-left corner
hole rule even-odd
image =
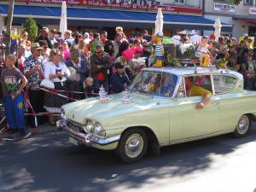
[[[125,88],[131,84],[130,79],[128,78],[127,74],[124,72],[124,64],[121,62],[117,62],[114,67],[116,68],[116,72],[113,73],[111,77],[111,84],[110,84],[110,92],[111,93],[120,93]]]

